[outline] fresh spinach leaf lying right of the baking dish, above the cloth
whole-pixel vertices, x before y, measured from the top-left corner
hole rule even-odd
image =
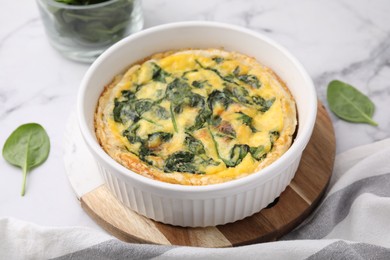
[[[328,85],[327,99],[330,110],[339,118],[354,123],[378,125],[372,120],[374,103],[353,86],[333,80]]]

